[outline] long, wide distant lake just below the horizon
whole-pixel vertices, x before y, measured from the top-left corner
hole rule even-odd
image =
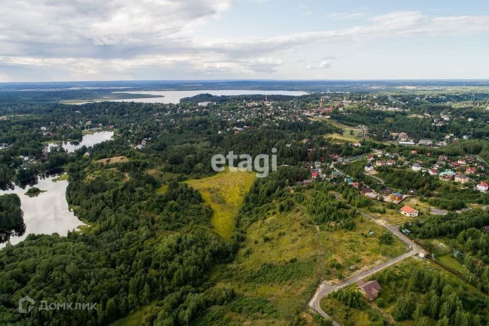
[[[141,102],[141,103],[180,103],[180,99],[189,96],[195,96],[199,94],[211,94],[215,96],[221,95],[292,95],[301,96],[307,95],[307,92],[301,91],[260,91],[260,90],[197,90],[197,91],[129,91],[129,92],[114,92],[114,93],[124,93],[124,94],[145,94],[145,95],[155,95],[163,97],[145,97],[145,98],[132,98],[132,99],[118,99],[110,100],[111,102]],[[94,102],[101,102],[95,100]],[[82,102],[76,104],[85,104],[89,102]]]

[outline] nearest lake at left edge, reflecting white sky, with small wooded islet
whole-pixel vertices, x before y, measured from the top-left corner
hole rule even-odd
[[[20,198],[20,208],[24,212],[25,232],[22,235],[10,236],[10,243],[16,244],[25,239],[30,233],[67,235],[69,230],[76,229],[84,223],[69,210],[66,201],[67,180],[52,181],[59,175],[37,177],[35,184],[22,188],[14,185],[13,188],[0,190],[0,195],[17,194]],[[46,192],[35,197],[25,195],[32,186]],[[22,232],[20,232],[22,233]],[[6,243],[0,243],[0,248]]]

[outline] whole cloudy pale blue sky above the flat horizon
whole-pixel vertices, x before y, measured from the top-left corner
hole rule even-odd
[[[0,0],[0,82],[489,79],[488,1]]]

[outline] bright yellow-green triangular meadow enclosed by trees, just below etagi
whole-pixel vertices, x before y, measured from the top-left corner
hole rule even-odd
[[[213,210],[212,226],[229,241],[234,230],[234,218],[255,178],[251,172],[226,170],[211,177],[186,180],[185,183],[197,189],[210,205]]]

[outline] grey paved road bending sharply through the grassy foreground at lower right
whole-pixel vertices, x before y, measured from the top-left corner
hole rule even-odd
[[[339,197],[339,194],[335,194],[335,196],[338,198]],[[366,277],[372,275],[372,274],[375,274],[377,273],[378,271],[381,271],[382,269],[384,268],[387,268],[389,266],[392,266],[394,264],[397,264],[399,262],[401,262],[402,260],[406,259],[406,258],[409,258],[409,257],[413,257],[415,255],[418,255],[419,253],[424,253],[426,254],[426,252],[423,250],[423,248],[421,248],[416,242],[412,241],[410,238],[408,238],[407,236],[405,236],[402,232],[399,231],[399,227],[398,226],[394,226],[394,225],[389,225],[387,224],[386,222],[382,221],[382,220],[377,220],[375,218],[373,218],[373,216],[357,209],[358,212],[360,212],[360,214],[362,214],[363,216],[365,216],[367,219],[370,219],[372,220],[374,223],[378,224],[378,225],[381,225],[387,229],[389,229],[392,233],[394,233],[398,238],[400,238],[402,241],[404,241],[406,244],[408,244],[408,246],[410,247],[410,251],[407,252],[407,253],[404,253],[400,256],[397,256],[396,258],[393,258],[391,260],[388,260],[386,262],[383,262],[383,263],[380,263],[378,265],[375,265],[374,267],[368,269],[368,270],[365,270],[363,271],[362,273],[360,274],[357,274],[355,276],[352,276],[351,278],[341,282],[340,284],[329,284],[327,282],[323,282],[321,285],[319,285],[319,287],[317,288],[316,290],[316,293],[314,294],[314,296],[312,297],[311,301],[309,302],[309,307],[311,307],[312,309],[314,309],[315,311],[317,311],[321,316],[323,316],[324,318],[328,318],[328,319],[331,319],[333,320],[333,318],[331,318],[327,313],[325,313],[321,307],[320,307],[320,302],[321,302],[321,299],[325,296],[327,296],[328,294],[332,293],[332,292],[335,292],[335,291],[338,291],[348,285],[351,285],[351,284],[354,284],[360,280],[363,280],[365,279]],[[340,324],[336,321],[333,320],[333,325],[335,326],[340,326]]]

